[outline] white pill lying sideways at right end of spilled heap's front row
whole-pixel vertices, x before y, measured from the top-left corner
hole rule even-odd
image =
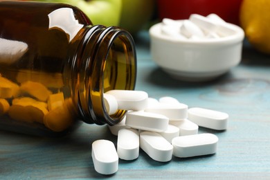
[[[217,136],[209,133],[178,136],[172,139],[173,155],[186,158],[215,154],[217,152],[217,142]]]

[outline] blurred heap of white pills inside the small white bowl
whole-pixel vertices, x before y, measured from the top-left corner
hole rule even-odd
[[[164,18],[161,25],[161,33],[177,39],[217,39],[237,33],[232,24],[215,14],[192,14],[183,20]]]

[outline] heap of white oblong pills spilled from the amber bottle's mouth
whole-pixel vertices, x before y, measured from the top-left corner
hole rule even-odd
[[[109,114],[117,109],[128,110],[125,118],[109,126],[118,136],[117,148],[111,141],[100,139],[92,143],[93,165],[100,174],[114,174],[118,159],[134,160],[139,149],[155,161],[167,162],[172,156],[186,158],[215,154],[218,138],[215,134],[198,134],[200,127],[224,130],[228,114],[188,108],[172,97],[149,98],[144,91],[111,90],[104,94]]]

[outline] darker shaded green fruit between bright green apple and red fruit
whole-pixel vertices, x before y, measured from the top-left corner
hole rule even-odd
[[[137,33],[152,18],[155,4],[155,0],[122,0],[119,26],[129,33]]]

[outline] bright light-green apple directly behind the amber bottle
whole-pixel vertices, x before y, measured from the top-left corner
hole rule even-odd
[[[33,0],[32,0],[33,1]],[[69,3],[82,10],[95,24],[119,26],[122,0],[34,0]],[[137,0],[135,0],[137,1]]]

